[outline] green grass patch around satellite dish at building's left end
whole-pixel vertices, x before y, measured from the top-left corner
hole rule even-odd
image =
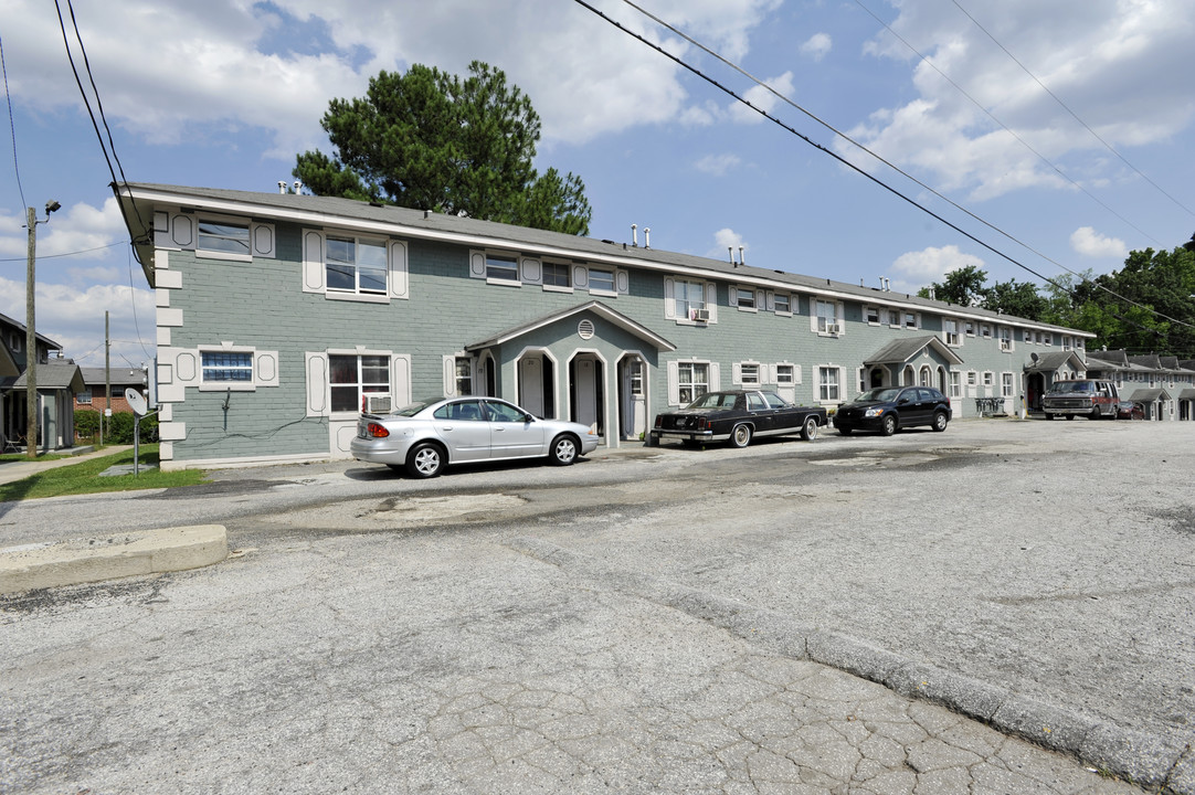
[[[61,458],[57,455],[38,457],[38,460]],[[24,461],[24,455],[4,455],[0,461]],[[207,482],[202,470],[182,470],[163,472],[159,469],[142,469],[140,475],[115,475],[99,477],[110,466],[133,464],[133,451],[100,455],[78,464],[59,466],[37,475],[0,484],[0,502],[16,500],[37,500],[41,497],[59,497],[68,494],[98,494],[102,491],[131,491],[134,489],[173,489],[180,485],[195,485]],[[142,467],[158,466],[158,445],[141,445]],[[5,466],[5,464],[0,464]]]

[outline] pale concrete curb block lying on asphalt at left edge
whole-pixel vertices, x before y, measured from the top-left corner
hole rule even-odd
[[[180,571],[228,557],[222,525],[143,530],[0,549],[0,593]]]

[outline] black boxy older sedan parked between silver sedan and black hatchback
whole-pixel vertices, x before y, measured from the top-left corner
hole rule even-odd
[[[687,445],[725,441],[746,447],[755,436],[799,433],[805,441],[817,438],[826,424],[826,409],[793,405],[770,390],[706,392],[684,409],[656,415],[654,441],[680,439]]]

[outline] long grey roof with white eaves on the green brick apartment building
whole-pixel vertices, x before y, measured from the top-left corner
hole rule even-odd
[[[1086,331],[1067,329],[1038,320],[1016,318],[973,306],[957,306],[945,301],[918,298],[907,293],[891,293],[876,287],[864,287],[832,279],[804,276],[779,269],[741,265],[676,251],[635,246],[629,243],[582,238],[560,232],[547,232],[545,230],[533,230],[529,227],[497,224],[495,221],[479,221],[472,218],[445,215],[390,204],[358,202],[333,196],[185,188],[153,183],[131,183],[128,185],[128,190],[124,186],[116,186],[116,194],[121,200],[124,212],[125,224],[129,226],[134,239],[140,239],[137,256],[146,269],[146,276],[149,279],[151,285],[153,285],[154,280],[153,246],[147,236],[151,234],[148,226],[152,224],[152,218],[146,218],[146,215],[152,215],[152,213],[140,203],[135,209],[133,202],[129,201],[129,190],[131,190],[137,202],[160,201],[164,204],[185,204],[190,201],[197,206],[207,206],[213,212],[223,210],[226,213],[247,213],[250,215],[253,214],[255,208],[259,208],[257,216],[263,220],[275,219],[280,214],[284,214],[294,219],[295,222],[307,222],[313,226],[321,226],[324,222],[336,226],[338,219],[344,225],[360,225],[361,222],[387,225],[400,227],[394,230],[396,234],[409,237],[441,240],[455,239],[459,241],[468,240],[474,245],[478,245],[478,241],[484,244],[485,240],[490,240],[490,245],[517,249],[528,255],[550,256],[557,253],[562,257],[588,257],[592,259],[606,259],[607,262],[621,259],[631,267],[691,273],[705,277],[717,276],[727,281],[741,279],[744,283],[759,283],[762,281],[782,288],[789,287],[796,291],[803,289],[813,293],[848,296],[864,304],[874,302],[917,307],[931,310],[939,314],[972,317],[993,323],[1016,323],[1022,326],[1029,325],[1035,329],[1056,330],[1081,337],[1095,336]]]

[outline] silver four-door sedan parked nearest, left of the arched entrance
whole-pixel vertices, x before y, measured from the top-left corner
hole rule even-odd
[[[456,397],[385,415],[362,412],[349,450],[361,461],[436,477],[445,466],[470,461],[546,457],[568,465],[592,453],[598,440],[592,428],[576,422],[541,420],[497,398]]]

